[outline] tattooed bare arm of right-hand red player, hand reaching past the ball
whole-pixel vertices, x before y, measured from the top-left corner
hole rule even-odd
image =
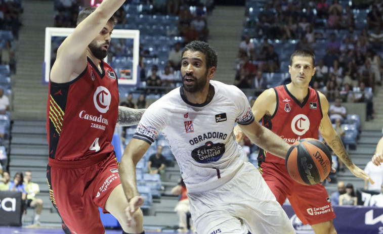
[[[322,107],[323,118],[320,122],[319,130],[322,133],[323,138],[327,142],[327,144],[334,151],[336,156],[345,163],[345,165],[350,169],[350,171],[356,176],[360,177],[364,180],[369,180],[370,183],[374,183],[374,181],[359,167],[357,167],[351,160],[349,154],[347,153],[341,137],[338,136],[335,129],[332,127],[330,118],[328,117],[328,101],[326,97],[319,93],[319,98]]]

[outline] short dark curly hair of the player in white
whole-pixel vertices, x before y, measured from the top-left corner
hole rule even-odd
[[[186,51],[199,51],[205,55],[206,58],[206,68],[216,67],[218,64],[218,55],[216,50],[212,48],[211,45],[204,41],[195,40],[188,43],[184,50],[182,51],[182,57]]]

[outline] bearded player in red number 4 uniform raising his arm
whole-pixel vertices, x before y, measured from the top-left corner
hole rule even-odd
[[[47,178],[65,233],[105,233],[98,207],[123,233],[144,233],[142,212],[127,226],[127,200],[111,145],[117,125],[134,125],[145,110],[118,107],[117,76],[103,62],[124,0],[104,0],[81,11],[77,27],[60,45],[49,83]]]

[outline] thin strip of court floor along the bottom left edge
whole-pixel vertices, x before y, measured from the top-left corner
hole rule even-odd
[[[106,230],[106,234],[121,234],[121,230]],[[63,234],[63,230],[59,227],[45,227],[27,228],[27,227],[5,227],[0,226],[0,234]],[[165,233],[180,233],[177,230],[162,230],[162,231],[148,231],[145,229],[146,234],[165,234]],[[192,232],[189,232],[192,233]]]

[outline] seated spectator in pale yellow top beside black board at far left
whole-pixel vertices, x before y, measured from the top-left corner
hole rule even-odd
[[[40,193],[40,187],[37,183],[32,182],[32,172],[25,171],[24,177],[25,191],[27,192],[27,207],[36,207],[36,214],[34,215],[33,224],[40,224],[40,215],[42,211],[42,200],[36,198],[36,195]]]

